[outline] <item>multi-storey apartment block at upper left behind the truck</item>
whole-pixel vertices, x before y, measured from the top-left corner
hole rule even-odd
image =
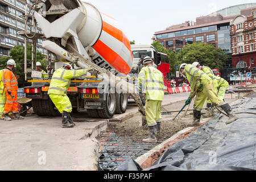
[[[23,36],[18,35],[18,31],[24,31],[26,3],[27,11],[33,5],[31,0],[0,0],[0,57],[9,56],[11,49],[16,45],[24,45]],[[32,13],[28,19],[27,30],[32,27]],[[36,32],[41,32],[37,27]],[[42,47],[42,39],[38,39],[36,49],[46,55],[47,50]]]

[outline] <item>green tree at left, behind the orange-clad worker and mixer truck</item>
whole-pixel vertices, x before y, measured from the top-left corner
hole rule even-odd
[[[27,46],[27,59],[31,60],[32,57],[32,52],[31,51],[31,46]],[[5,69],[6,68],[6,63],[7,60],[9,59],[14,59],[16,63],[16,68],[14,69],[14,74],[16,76],[19,76],[18,78],[18,84],[19,87],[24,87],[25,85],[30,85],[27,84],[25,81],[25,74],[24,74],[24,47],[23,46],[14,46],[13,49],[10,51],[10,56],[11,57],[1,57],[0,58],[0,69]],[[42,69],[46,70],[46,59],[45,56],[41,52],[36,52],[36,60],[42,63]],[[30,62],[30,61],[28,61]]]

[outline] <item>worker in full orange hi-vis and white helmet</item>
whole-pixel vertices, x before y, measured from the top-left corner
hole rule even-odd
[[[3,114],[5,120],[10,121],[10,113],[14,115],[14,119],[24,119],[18,114],[18,81],[13,73],[16,63],[13,59],[7,61],[7,68],[3,70],[3,86],[6,92],[6,104]]]

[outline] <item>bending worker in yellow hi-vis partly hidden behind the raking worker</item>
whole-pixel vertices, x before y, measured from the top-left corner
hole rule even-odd
[[[194,62],[192,65],[206,73],[210,78],[212,78],[218,98],[220,98],[220,100],[224,100],[226,89],[229,87],[229,82],[224,80],[224,78],[215,76],[212,69],[210,69],[209,67],[201,66],[199,62]],[[214,105],[209,100],[209,98],[207,98],[207,113],[204,114],[203,117],[211,117],[213,115]]]

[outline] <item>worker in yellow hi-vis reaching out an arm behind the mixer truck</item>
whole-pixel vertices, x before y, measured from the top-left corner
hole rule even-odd
[[[48,95],[53,104],[55,104],[62,114],[62,125],[64,128],[75,126],[75,123],[72,121],[71,115],[69,114],[72,111],[72,105],[67,96],[71,78],[87,75],[87,72],[91,70],[92,68],[72,70],[72,65],[66,63],[62,68],[56,69],[52,75]]]

